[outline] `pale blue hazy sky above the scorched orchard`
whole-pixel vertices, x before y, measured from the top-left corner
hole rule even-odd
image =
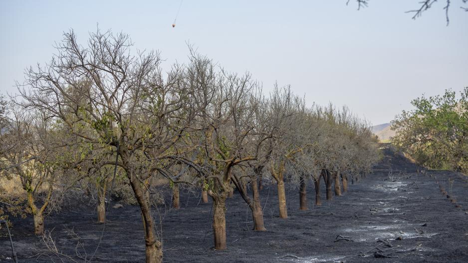
[[[265,93],[290,84],[309,104],[348,105],[373,124],[410,100],[468,86],[468,12],[453,0],[416,20],[419,0],[0,1],[0,93],[14,93],[23,70],[50,60],[73,28],[129,33],[139,49],[158,49],[165,65],[187,60],[186,42],[229,71],[251,72]]]

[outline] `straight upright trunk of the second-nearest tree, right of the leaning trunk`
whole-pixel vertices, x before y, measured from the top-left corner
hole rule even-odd
[[[226,198],[213,198],[213,233],[215,235],[215,250],[225,250],[226,244]]]

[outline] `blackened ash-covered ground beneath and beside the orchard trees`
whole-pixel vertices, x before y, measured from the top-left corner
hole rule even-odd
[[[165,262],[468,262],[468,177],[455,172],[416,173],[417,166],[383,146],[382,163],[343,196],[314,205],[308,185],[309,210],[299,211],[298,189],[287,189],[288,219],[278,217],[275,185],[261,191],[266,232],[253,232],[250,211],[241,197],[227,202],[226,251],[213,250],[210,204],[181,192],[181,209],[161,215]],[[393,176],[389,177],[389,172]],[[452,192],[448,179],[454,180]],[[390,180],[389,180],[390,179]],[[443,185],[456,204],[440,191]],[[166,197],[168,206],[170,197]],[[456,205],[459,207],[457,208]],[[460,207],[461,206],[461,207]],[[165,210],[161,208],[161,211]],[[45,219],[59,252],[76,254],[78,240],[90,255],[102,225],[95,209],[85,204]],[[156,219],[160,217],[154,209]],[[110,208],[106,229],[92,262],[144,262],[145,248],[139,208]],[[13,220],[12,239],[19,262],[60,262],[36,254],[38,238],[32,218]],[[338,237],[337,236],[341,236]],[[398,240],[401,238],[401,240]],[[338,241],[339,240],[339,241]],[[0,262],[12,262],[9,240],[0,238]],[[89,256],[88,256],[89,259]],[[63,262],[71,260],[62,257]],[[81,260],[74,258],[78,262]]]

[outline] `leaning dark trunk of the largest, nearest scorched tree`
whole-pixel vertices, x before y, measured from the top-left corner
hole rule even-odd
[[[163,262],[163,246],[156,237],[156,229],[153,217],[151,215],[151,207],[147,193],[142,189],[139,180],[132,178],[129,174],[130,181],[135,197],[140,205],[141,215],[143,218],[143,227],[145,229],[145,254],[146,263],[162,263]]]

